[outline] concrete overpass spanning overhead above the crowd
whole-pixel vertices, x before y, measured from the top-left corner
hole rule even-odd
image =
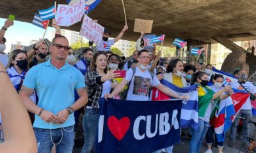
[[[65,0],[59,0],[57,3],[65,4]],[[234,68],[237,65],[244,68],[245,50],[232,45],[228,40],[256,40],[255,0],[124,0],[124,3],[129,25],[129,30],[124,34],[125,40],[136,41],[140,36],[139,33],[133,32],[135,18],[154,20],[152,33],[165,34],[164,45],[170,46],[175,37],[187,40],[191,46],[218,42],[231,48],[234,57],[243,57],[239,59],[242,63],[227,64],[234,65]],[[52,0],[1,0],[0,17],[6,18],[13,14],[16,20],[31,22],[38,10],[52,4]],[[125,24],[120,0],[102,0],[89,16],[98,19],[99,24],[107,27],[113,36],[116,36]],[[78,23],[67,29],[79,31],[80,27],[81,23]]]

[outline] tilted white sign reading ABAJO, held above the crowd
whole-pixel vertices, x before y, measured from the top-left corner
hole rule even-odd
[[[102,40],[102,34],[104,32],[104,27],[97,24],[92,18],[84,15],[83,24],[81,26],[80,34],[86,39],[93,41],[96,45],[100,45]]]

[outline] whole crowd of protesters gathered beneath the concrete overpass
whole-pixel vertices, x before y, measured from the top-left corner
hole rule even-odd
[[[161,80],[164,79],[178,87],[198,85],[199,122],[197,130],[189,129],[189,152],[200,152],[202,142],[206,138],[208,149],[205,153],[211,153],[212,138],[215,137],[210,122],[212,105],[218,105],[222,99],[230,98],[233,94],[232,88],[243,90],[245,86],[256,96],[256,87],[247,81],[248,71],[238,69],[234,75],[239,81],[223,87],[224,77],[214,74],[211,64],[188,64],[177,58],[163,61],[161,51],[156,53],[156,44],[153,52],[148,52],[143,48],[143,33],[136,43],[132,59],[124,62],[120,55],[113,54],[109,49],[122,38],[128,29],[127,25],[112,40],[109,39],[111,33],[105,29],[100,45],[84,48],[79,59],[74,56],[74,50],[70,48],[67,38],[61,36],[60,27],[56,25],[55,20],[52,21],[52,27],[56,29],[56,37],[49,48],[44,41],[38,41],[28,52],[17,49],[8,57],[4,53],[4,44],[7,41],[4,33],[12,25],[13,21],[6,20],[0,30],[0,61],[6,68],[1,68],[0,64],[0,82],[3,82],[2,77],[6,77],[3,76],[6,73],[15,92],[19,93],[33,124],[38,152],[51,152],[53,146],[56,147],[56,152],[72,152],[78,124],[83,125],[84,131],[82,152],[93,152],[100,115],[100,98],[148,101],[152,99],[152,87],[156,87],[173,98],[188,99],[188,96],[175,94],[161,84]],[[92,42],[90,44],[92,45]],[[209,82],[213,82],[214,85],[208,86]],[[1,91],[4,91],[3,87],[5,86],[1,86]],[[0,106],[2,107],[1,103]],[[0,110],[3,114],[7,113],[3,108]],[[83,122],[79,123],[79,115],[82,112]],[[23,113],[19,116],[22,117]],[[249,99],[237,116],[252,118]],[[3,115],[3,120],[7,120],[6,115]],[[238,122],[236,119],[230,129],[231,147],[236,143]],[[243,120],[244,143],[249,133],[246,122]],[[5,125],[5,122],[2,125],[6,143],[10,138],[8,135],[12,134],[7,130],[8,125]],[[33,138],[30,139],[33,142]],[[218,152],[223,152],[223,142],[217,143]],[[164,150],[172,152],[173,146]]]

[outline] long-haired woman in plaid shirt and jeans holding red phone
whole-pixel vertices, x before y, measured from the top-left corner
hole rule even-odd
[[[99,122],[100,110],[99,99],[109,94],[111,89],[116,86],[112,79],[120,76],[111,69],[107,72],[108,62],[104,52],[97,52],[93,55],[90,70],[86,73],[86,85],[88,86],[88,103],[83,118],[84,145],[82,153],[90,153],[93,149],[97,126]]]

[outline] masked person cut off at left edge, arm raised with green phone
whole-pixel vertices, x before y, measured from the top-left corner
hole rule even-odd
[[[1,30],[0,30],[0,62],[4,65],[4,67],[7,65],[9,61],[8,55],[4,53],[4,50],[6,49],[6,46],[5,46],[6,39],[4,38],[4,34],[5,34],[5,31],[8,29],[8,27],[10,27],[11,25],[13,25],[13,21],[6,20],[4,22],[3,27],[1,27]]]

